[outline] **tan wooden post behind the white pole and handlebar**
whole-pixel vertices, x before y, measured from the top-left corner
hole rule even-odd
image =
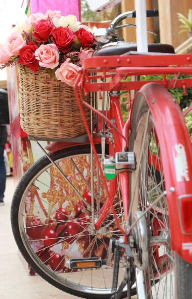
[[[152,6],[152,0],[146,0],[146,7],[147,9],[155,9]],[[123,0],[121,2],[121,12],[125,11],[130,11],[130,10],[135,10],[135,1],[134,0]],[[129,18],[126,19],[122,22],[123,24],[136,24],[135,18]],[[153,25],[153,18],[148,17],[147,18],[147,29],[154,31],[154,25]],[[125,41],[133,41],[136,42],[136,29],[135,28],[123,28],[123,38]],[[154,35],[151,33],[147,34],[147,40],[148,43],[153,43],[154,42]]]

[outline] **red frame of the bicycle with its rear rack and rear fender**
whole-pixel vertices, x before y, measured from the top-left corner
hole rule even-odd
[[[158,67],[156,66],[157,61]],[[101,96],[102,91],[140,90],[139,93],[145,97],[155,123],[159,124],[157,128],[158,130],[156,132],[158,135],[158,140],[160,144],[167,145],[167,147],[164,146],[162,148],[162,152],[164,153],[164,156],[167,156],[167,159],[164,159],[163,161],[163,169],[167,190],[170,230],[172,235],[171,246],[172,249],[175,250],[187,262],[192,262],[192,147],[189,136],[187,136],[187,134],[183,134],[183,132],[186,132],[186,127],[184,119],[181,120],[182,113],[180,107],[175,103],[176,100],[174,101],[173,97],[167,92],[166,88],[183,88],[184,93],[186,93],[186,88],[192,87],[192,78],[178,79],[178,75],[192,74],[191,64],[192,55],[150,55],[150,59],[147,55],[111,57],[101,56],[88,58],[84,61],[84,68],[79,71],[74,89],[87,129],[89,141],[95,153],[96,161],[100,170],[100,176],[107,193],[107,201],[105,202],[101,210],[101,215],[95,224],[96,229],[100,227],[102,220],[105,218],[109,209],[111,208],[113,210],[117,226],[119,230],[124,234],[126,240],[126,234],[119,225],[112,204],[116,188],[116,179],[113,179],[110,182],[108,190],[95,149],[95,144],[101,143],[101,138],[92,139],[88,124],[84,116],[82,104],[86,105],[95,113],[103,117],[113,129],[113,138],[116,152],[128,149],[128,140],[131,133],[130,120],[132,110],[130,110],[129,112],[128,121],[124,124],[119,105],[119,97],[111,96],[110,119],[108,119],[101,112],[98,112],[94,107],[87,104],[83,100],[81,92],[83,91],[85,94],[88,94],[89,92],[97,91]],[[174,65],[174,67],[170,67],[169,65]],[[99,68],[97,68],[98,66]],[[163,74],[163,80],[155,81],[156,83],[158,83],[155,84],[155,88],[153,84],[150,85],[150,82],[154,81],[122,81],[126,76],[136,76],[142,74]],[[166,74],[174,74],[173,79],[167,80]],[[93,83],[93,80],[101,78],[109,78],[110,81]],[[78,88],[80,91],[80,96],[78,94]],[[154,99],[156,105],[153,105]],[[188,113],[191,110],[192,105],[188,109]],[[162,119],[165,119],[164,123],[162,123],[162,119],[159,120],[160,117]],[[182,128],[178,128],[177,126],[178,118],[180,119]],[[112,123],[112,119],[114,119],[115,122]],[[165,136],[162,133],[166,132],[167,130],[165,126],[165,124],[167,125],[167,119],[170,119],[172,132],[174,132],[174,136],[171,137],[168,136],[169,134]],[[110,144],[108,140],[107,143]],[[58,149],[58,146],[59,148],[64,148],[73,145],[74,144],[64,145],[61,143],[60,145],[58,145],[57,143],[55,145],[48,146],[46,149],[50,150],[52,148],[51,151],[55,151],[56,148]],[[190,176],[184,175],[184,179],[182,178],[182,180],[178,179],[178,163],[182,161],[182,156],[180,156],[180,162],[179,159],[177,160],[177,154],[180,155],[179,151],[177,152],[177,148],[179,147],[179,145],[182,145],[185,150],[185,159],[187,163],[186,169],[190,174]],[[176,150],[176,153],[173,152],[173,150]],[[110,153],[111,149],[109,149],[109,154]],[[153,155],[153,159],[155,159],[155,155]],[[121,186],[125,220],[127,222],[129,208],[129,173],[121,172],[118,173],[118,176]],[[174,192],[172,192],[173,189]]]

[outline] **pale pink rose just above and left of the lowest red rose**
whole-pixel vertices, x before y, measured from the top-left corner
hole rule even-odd
[[[26,41],[19,32],[12,32],[7,38],[5,51],[9,56],[19,55],[19,50],[26,46]]]

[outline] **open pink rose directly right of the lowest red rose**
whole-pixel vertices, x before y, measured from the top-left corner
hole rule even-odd
[[[59,64],[59,49],[55,44],[40,45],[35,51],[39,66],[54,69]]]

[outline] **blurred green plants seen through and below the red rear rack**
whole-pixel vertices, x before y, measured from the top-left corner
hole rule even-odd
[[[179,78],[191,78],[190,75],[180,75]],[[167,75],[167,79],[173,79],[173,75]],[[149,75],[147,77],[141,76],[140,80],[163,80],[163,75]],[[126,81],[130,81],[130,77],[126,79]],[[182,88],[168,89],[169,92],[174,96],[174,98],[178,101],[181,110],[184,112],[192,103],[192,88],[186,88],[187,95],[183,95]],[[129,92],[123,91],[121,93],[120,105],[121,111],[123,115],[124,122],[128,118],[127,104],[129,104]],[[192,140],[192,111],[185,117],[186,125],[190,134],[190,138]]]

